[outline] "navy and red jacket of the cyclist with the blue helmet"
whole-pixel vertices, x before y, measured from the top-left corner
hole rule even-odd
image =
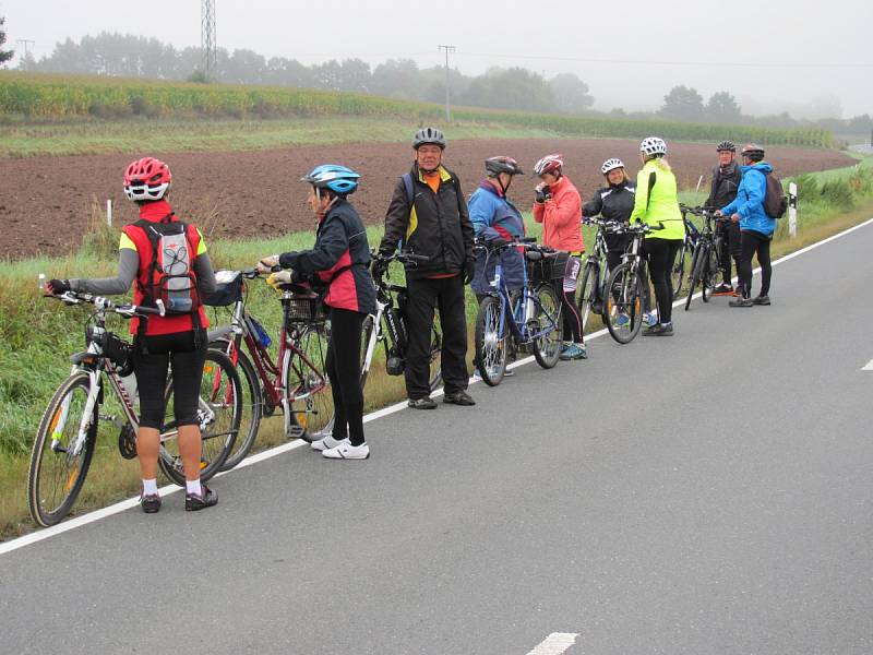
[[[318,275],[328,285],[325,305],[362,313],[375,311],[369,263],[370,246],[363,223],[355,207],[339,198],[319,222],[312,250],[279,257],[283,269],[294,269],[304,276]]]

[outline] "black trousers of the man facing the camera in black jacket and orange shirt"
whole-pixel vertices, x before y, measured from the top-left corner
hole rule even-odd
[[[442,374],[445,393],[467,389],[467,319],[464,312],[464,278],[423,277],[407,279],[409,298],[406,320],[406,393],[410,400],[430,395],[430,346],[433,310],[440,310]]]

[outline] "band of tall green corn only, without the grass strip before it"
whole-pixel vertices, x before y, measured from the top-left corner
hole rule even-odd
[[[414,122],[439,120],[439,105],[398,100],[356,93],[229,84],[169,83],[119,78],[44,75],[0,72],[0,116],[25,119],[97,117],[243,118],[359,116],[394,117]],[[553,130],[579,136],[642,138],[717,141],[730,133],[740,141],[763,144],[830,147],[828,130],[778,130],[752,126],[681,123],[596,117],[522,114],[456,108],[454,118]]]

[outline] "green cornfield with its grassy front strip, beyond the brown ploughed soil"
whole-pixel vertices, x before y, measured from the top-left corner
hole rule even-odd
[[[352,93],[0,71],[0,156],[252,150],[402,140],[443,107]],[[830,147],[826,130],[624,120],[456,107],[455,138],[643,138]]]

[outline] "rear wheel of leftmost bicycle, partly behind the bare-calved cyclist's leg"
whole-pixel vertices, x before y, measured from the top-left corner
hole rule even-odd
[[[171,415],[172,379],[167,381],[166,413]],[[198,414],[208,409],[213,419],[201,430],[200,479],[206,481],[222,468],[239,433],[242,414],[242,382],[230,358],[218,350],[206,350],[203,377],[200,383]],[[176,418],[166,421],[160,429],[160,449],[157,464],[172,483],[180,487],[186,483],[182,458],[175,439],[168,433],[177,432]]]

